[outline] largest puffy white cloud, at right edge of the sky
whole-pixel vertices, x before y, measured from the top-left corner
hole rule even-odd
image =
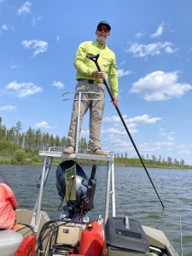
[[[192,89],[190,84],[178,83],[177,72],[155,71],[132,84],[131,93],[143,95],[148,101],[166,101],[183,96]]]

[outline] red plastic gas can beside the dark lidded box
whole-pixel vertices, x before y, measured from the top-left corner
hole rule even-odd
[[[82,231],[79,254],[86,256],[101,256],[104,236],[102,226],[96,221],[88,224]]]

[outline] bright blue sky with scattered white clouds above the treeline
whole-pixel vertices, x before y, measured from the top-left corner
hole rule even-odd
[[[192,2],[0,0],[0,115],[67,136],[72,103],[61,94],[76,86],[74,56],[96,39],[96,25],[112,26],[119,110],[141,154],[192,165]],[[81,135],[89,137],[89,114]],[[136,156],[106,97],[102,148]]]

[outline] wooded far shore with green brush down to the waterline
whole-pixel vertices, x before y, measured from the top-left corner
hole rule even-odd
[[[41,150],[49,150],[49,148],[66,148],[68,145],[67,137],[54,136],[53,134],[44,133],[40,129],[33,130],[29,127],[27,131],[21,132],[20,121],[10,128],[3,125],[3,119],[0,116],[0,164],[7,165],[42,165],[43,158],[38,155]],[[84,137],[79,141],[79,148],[87,150],[89,142]],[[123,148],[122,148],[123,149]],[[152,154],[141,154],[144,166],[148,168],[164,168],[164,169],[188,169],[192,166],[186,165],[183,159],[176,159],[174,152],[172,156],[163,157]],[[64,159],[63,159],[64,160]],[[53,164],[60,164],[62,159],[54,159]],[[84,165],[92,165],[92,160],[78,160]],[[96,165],[106,165],[101,161],[94,161]],[[141,160],[131,158],[127,152],[114,152],[115,166],[135,166],[143,167]]]

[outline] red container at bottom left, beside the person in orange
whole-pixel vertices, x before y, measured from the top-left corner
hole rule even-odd
[[[15,256],[34,256],[36,243],[36,236],[26,236],[16,251]]]

